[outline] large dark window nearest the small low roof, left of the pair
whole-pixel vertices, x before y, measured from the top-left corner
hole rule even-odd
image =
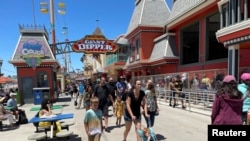
[[[199,22],[181,30],[181,63],[199,62]]]

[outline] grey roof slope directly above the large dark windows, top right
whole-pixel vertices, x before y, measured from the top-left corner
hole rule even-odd
[[[171,14],[167,22],[170,23],[174,21],[181,15],[187,13],[205,1],[206,0],[176,0],[173,4]]]

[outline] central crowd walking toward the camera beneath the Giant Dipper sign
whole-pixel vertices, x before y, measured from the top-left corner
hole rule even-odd
[[[159,112],[156,90],[152,80],[147,81],[146,90],[142,90],[141,83],[141,80],[136,80],[130,84],[121,76],[117,82],[112,77],[108,80],[101,77],[95,83],[86,81],[70,86],[72,99],[77,103],[76,109],[86,109],[84,127],[89,141],[99,141],[102,132],[111,132],[109,107],[112,107],[112,115],[116,117],[116,126],[125,125],[124,141],[133,123],[138,141],[153,138],[143,131],[153,131],[155,116]],[[145,128],[141,125],[142,118],[147,123]]]

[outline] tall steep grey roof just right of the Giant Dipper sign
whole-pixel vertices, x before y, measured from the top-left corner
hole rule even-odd
[[[169,14],[170,10],[165,0],[136,0],[126,35],[140,25],[163,27]]]

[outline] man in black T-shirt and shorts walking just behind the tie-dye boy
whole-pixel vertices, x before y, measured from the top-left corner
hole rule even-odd
[[[99,99],[98,109],[102,111],[102,115],[104,117],[105,131],[110,132],[110,130],[108,129],[108,107],[109,107],[108,101],[110,100],[112,102],[112,105],[114,105],[114,100],[106,85],[105,77],[102,77],[100,84],[99,85],[97,84],[97,86],[95,87],[92,97],[98,97]]]

